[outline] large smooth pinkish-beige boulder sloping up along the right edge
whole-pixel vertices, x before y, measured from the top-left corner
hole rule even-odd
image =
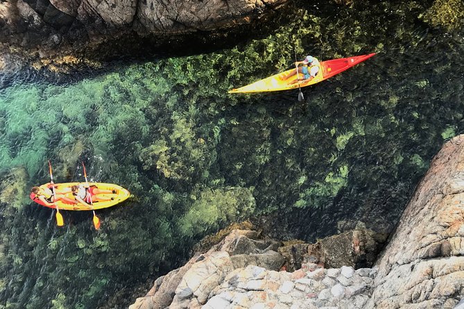
[[[369,308],[454,308],[464,297],[464,136],[440,150],[377,266]]]

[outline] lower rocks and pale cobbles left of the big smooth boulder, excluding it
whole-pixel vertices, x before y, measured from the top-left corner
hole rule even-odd
[[[183,267],[158,278],[151,291],[130,308],[291,308],[303,299],[304,308],[362,306],[369,299],[375,271],[355,271],[351,266],[326,270],[320,261],[344,245],[343,252],[349,256],[361,256],[353,241],[363,252],[370,251],[364,244],[366,235],[368,231],[352,231],[317,245],[298,240],[283,244],[261,239],[257,231],[235,229],[206,253],[196,254]],[[360,238],[364,242],[357,242]],[[316,252],[315,246],[324,249]]]

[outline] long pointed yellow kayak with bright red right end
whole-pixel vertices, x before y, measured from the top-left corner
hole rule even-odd
[[[318,64],[319,72],[317,75],[314,76],[314,78],[311,80],[307,81],[295,82],[297,79],[296,75],[284,80],[285,76],[288,76],[289,73],[295,71],[295,69],[290,69],[282,73],[269,76],[268,78],[264,78],[263,80],[258,80],[257,82],[253,82],[250,85],[232,89],[229,91],[229,94],[252,94],[255,92],[281,91],[314,85],[318,82],[322,82],[323,80],[327,80],[327,78],[331,78],[338,73],[350,69],[350,67],[353,67],[354,65],[371,58],[373,55],[375,55],[375,53],[321,61]],[[301,76],[301,74],[299,75]]]

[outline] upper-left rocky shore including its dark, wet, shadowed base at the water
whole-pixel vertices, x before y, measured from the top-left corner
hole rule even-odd
[[[51,71],[224,42],[273,15],[287,0],[6,1],[0,3],[0,69],[27,62]],[[196,44],[191,44],[192,39]],[[8,65],[6,65],[8,64]]]

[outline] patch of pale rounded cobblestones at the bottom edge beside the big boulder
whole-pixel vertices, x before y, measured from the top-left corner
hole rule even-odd
[[[275,272],[250,265],[228,274],[212,290],[203,309],[232,308],[363,308],[369,299],[375,270],[342,267]]]

